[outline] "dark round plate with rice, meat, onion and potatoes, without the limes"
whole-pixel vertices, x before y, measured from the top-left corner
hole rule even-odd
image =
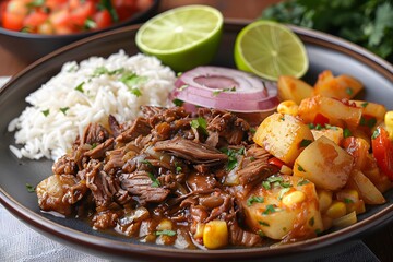
[[[307,70],[261,80],[234,58],[251,23],[225,21],[182,73],[141,53],[140,25],[19,73],[0,92],[1,203],[114,260],[317,258],[392,222],[392,66],[285,26]]]

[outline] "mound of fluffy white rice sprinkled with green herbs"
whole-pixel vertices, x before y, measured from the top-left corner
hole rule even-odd
[[[128,86],[120,81],[123,73],[93,76],[97,68],[132,71],[143,81]],[[10,145],[10,150],[19,158],[56,160],[90,122],[106,124],[109,115],[123,122],[140,116],[142,105],[166,106],[175,80],[175,73],[158,59],[142,53],[129,57],[123,50],[109,58],[68,62],[59,74],[26,97],[31,106],[9,123],[9,132],[16,131],[15,142],[21,145]],[[75,90],[83,82],[83,92]],[[138,97],[130,88],[138,88],[142,95]]]

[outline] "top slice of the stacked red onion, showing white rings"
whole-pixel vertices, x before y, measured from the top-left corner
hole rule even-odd
[[[241,94],[246,99],[267,96],[264,82],[240,70],[221,67],[198,67],[182,73],[175,83],[177,88],[188,90],[200,96],[233,99]],[[235,91],[231,91],[235,90]]]

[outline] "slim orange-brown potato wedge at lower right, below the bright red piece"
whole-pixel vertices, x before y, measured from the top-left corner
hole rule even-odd
[[[348,187],[356,189],[366,204],[383,204],[386,202],[381,191],[360,170],[350,174]]]

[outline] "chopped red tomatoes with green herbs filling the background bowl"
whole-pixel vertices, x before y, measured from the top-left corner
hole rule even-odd
[[[1,26],[25,33],[64,35],[108,27],[146,10],[152,0],[7,0]]]

